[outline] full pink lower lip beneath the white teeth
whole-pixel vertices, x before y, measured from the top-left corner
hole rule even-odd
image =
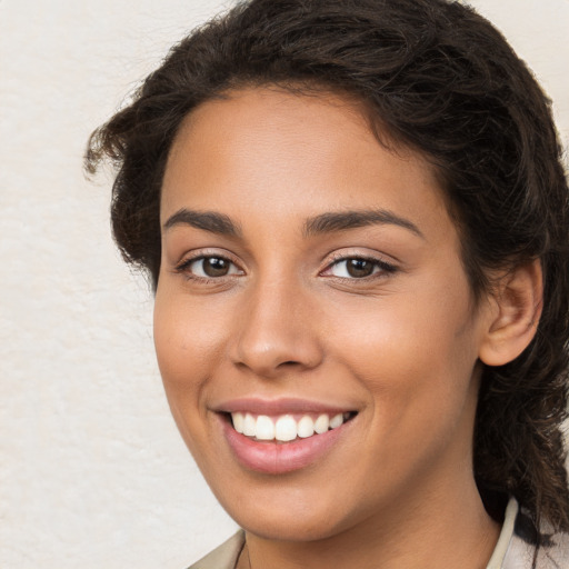
[[[237,432],[229,420],[223,418],[222,422],[226,440],[242,466],[264,475],[283,475],[306,468],[320,459],[338,443],[351,421],[322,435],[280,443],[252,440]]]

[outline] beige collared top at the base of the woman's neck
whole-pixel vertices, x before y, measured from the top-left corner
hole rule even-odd
[[[502,530],[486,569],[531,569],[535,546],[523,540],[527,518],[511,498],[506,508]],[[542,533],[537,569],[569,569],[569,535]],[[238,531],[220,547],[189,569],[234,569],[244,545],[243,530]]]

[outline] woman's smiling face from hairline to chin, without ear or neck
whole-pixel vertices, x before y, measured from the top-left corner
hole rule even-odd
[[[341,98],[233,92],[183,123],[161,223],[166,392],[238,523],[320,539],[473,486],[488,318],[418,154]]]

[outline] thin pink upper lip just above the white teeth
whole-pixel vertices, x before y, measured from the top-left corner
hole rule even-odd
[[[298,398],[260,399],[257,397],[232,399],[214,406],[214,410],[224,413],[250,412],[254,415],[286,415],[286,413],[342,413],[355,411],[345,405],[329,405],[321,401]]]

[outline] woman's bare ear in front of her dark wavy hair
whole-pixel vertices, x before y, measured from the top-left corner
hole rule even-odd
[[[489,299],[491,307],[480,345],[480,360],[488,366],[503,366],[515,360],[536,335],[542,300],[539,259],[501,277]]]

